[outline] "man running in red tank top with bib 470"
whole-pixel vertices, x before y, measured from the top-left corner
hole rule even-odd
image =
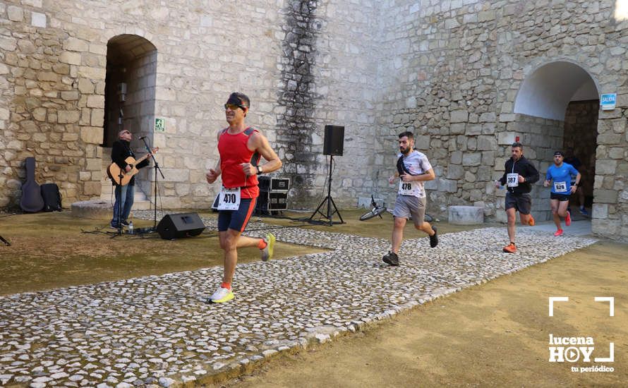
[[[215,169],[210,169],[206,176],[207,183],[214,183],[222,176],[218,234],[220,248],[224,250],[224,274],[222,284],[210,297],[212,303],[227,302],[234,298],[231,281],[238,262],[237,248],[256,246],[262,251],[264,261],[272,257],[274,248],[275,238],[272,234],[267,234],[266,238],[241,236],[260,193],[257,175],[275,171],[282,166],[282,161],[270,148],[265,136],[244,123],[249,107],[250,100],[246,95],[238,92],[229,95],[227,104],[224,104],[229,127],[218,131],[220,159]],[[259,164],[260,156],[266,160],[263,165]]]

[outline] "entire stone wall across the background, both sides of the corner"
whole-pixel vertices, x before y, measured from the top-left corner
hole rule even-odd
[[[492,181],[507,141],[519,135],[541,170],[564,143],[562,117],[515,110],[521,85],[562,61],[583,69],[597,92],[619,97],[598,118],[593,229],[627,239],[628,21],[615,11],[611,0],[3,3],[0,205],[17,203],[27,156],[37,158],[40,183],[61,183],[66,202],[97,196],[107,43],[136,35],[157,49],[154,111],[140,109],[140,121],[166,119],[163,133],[147,129],[162,148],[164,207],[209,205],[217,185],[207,185],[205,171],[218,159],[222,104],[240,90],[252,99],[248,123],[284,161],[277,175],[295,185],[291,207],[312,208],[325,194],[322,134],[334,124],[346,127],[344,155],[332,166],[340,205],[371,193],[390,203],[397,133],[413,131],[437,174],[428,212],[477,205],[502,217]],[[255,28],[234,32],[242,20]],[[540,90],[537,103],[565,90]],[[533,210],[541,219],[544,193],[535,193]]]

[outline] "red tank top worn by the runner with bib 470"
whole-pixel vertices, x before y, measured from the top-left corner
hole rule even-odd
[[[241,198],[258,198],[258,176],[246,176],[242,171],[242,163],[257,165],[260,154],[246,147],[248,138],[257,131],[248,127],[245,131],[231,135],[224,129],[218,138],[218,152],[220,154],[220,170],[222,171],[222,186],[225,188],[241,188]]]

